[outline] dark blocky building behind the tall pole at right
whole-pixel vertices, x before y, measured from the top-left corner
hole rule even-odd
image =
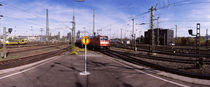
[[[159,31],[159,35],[158,35]],[[148,31],[144,32],[145,36],[145,43],[151,44],[152,43],[152,30],[149,29]],[[158,45],[158,38],[159,38],[159,45],[171,45],[173,43],[173,36],[174,31],[170,29],[161,29],[156,28],[154,29],[154,44]]]

